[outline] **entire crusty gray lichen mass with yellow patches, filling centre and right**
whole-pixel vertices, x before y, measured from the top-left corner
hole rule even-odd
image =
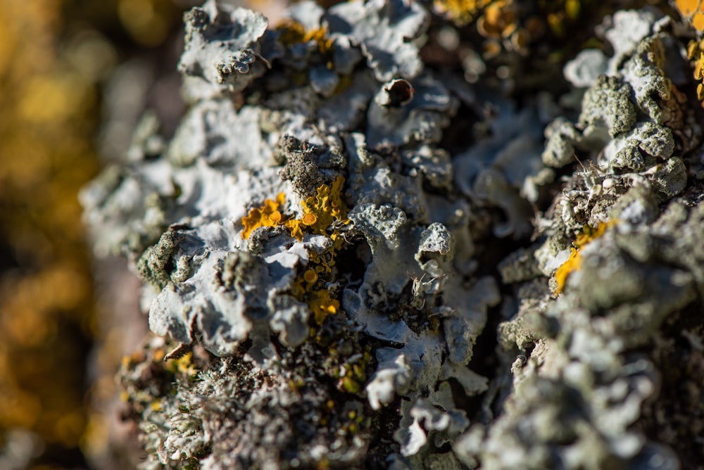
[[[278,27],[213,0],[184,16],[175,135],[156,151],[135,139],[82,193],[96,253],[130,260],[157,335],[119,374],[142,467],[691,458],[653,431],[701,396],[658,394],[668,325],[692,343],[687,364],[702,331],[702,131],[681,24],[617,11],[564,80],[505,44],[472,56],[496,72],[479,80],[453,40],[564,52],[514,34],[552,8],[554,39],[582,4],[465,3],[301,2]],[[465,39],[473,27],[484,39]],[[442,44],[446,62],[428,59]],[[507,70],[537,91],[513,94]]]

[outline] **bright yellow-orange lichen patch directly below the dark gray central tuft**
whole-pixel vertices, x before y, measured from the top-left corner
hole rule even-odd
[[[286,222],[286,227],[291,231],[291,236],[302,240],[303,227],[308,227],[314,234],[327,235],[337,241],[339,235],[334,232],[332,235],[327,234],[327,228],[335,221],[346,223],[347,208],[341,198],[344,182],[345,179],[343,177],[337,177],[332,186],[322,184],[315,196],[309,196],[306,201],[301,202],[303,207],[301,220],[289,220]]]

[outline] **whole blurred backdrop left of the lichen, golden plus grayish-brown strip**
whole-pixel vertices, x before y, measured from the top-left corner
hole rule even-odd
[[[125,151],[145,108],[167,126],[179,117],[192,3],[0,1],[0,469],[120,467],[108,441],[129,430],[104,412],[140,338],[98,314],[135,315],[137,284],[114,260],[94,281],[77,192]],[[134,294],[98,285],[114,281]]]

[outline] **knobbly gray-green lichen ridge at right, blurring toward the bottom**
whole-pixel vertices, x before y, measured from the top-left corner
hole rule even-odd
[[[642,21],[647,15],[622,13],[616,19],[624,18]],[[569,165],[582,153],[591,158],[590,167],[574,172],[543,216],[543,245],[505,260],[505,281],[536,277],[525,267],[532,258],[547,275],[562,263],[570,266],[565,236],[582,224],[613,225],[578,245],[571,257],[579,264],[572,265],[558,298],[544,288],[522,288],[517,315],[499,331],[505,363],[516,357],[511,352],[524,360],[513,363],[513,384],[504,385],[510,395],[503,414],[489,426],[473,426],[455,443],[469,466],[679,468],[670,450],[634,428],[660,387],[660,374],[639,348],[700,299],[700,268],[690,261],[698,259],[699,248],[689,244],[700,228],[681,224],[697,220],[701,206],[684,209],[670,201],[660,215],[662,201],[686,188],[686,167],[674,155],[690,144],[673,134],[693,122],[691,111],[681,108],[684,101],[674,99],[679,91],[665,79],[666,59],[658,53],[665,39],[662,31],[641,34],[631,52],[620,56],[615,76],[601,75],[586,91],[577,125],[560,118],[546,130],[546,164]],[[673,211],[681,214],[679,224],[669,217]],[[675,227],[689,240],[678,259],[671,248]]]

